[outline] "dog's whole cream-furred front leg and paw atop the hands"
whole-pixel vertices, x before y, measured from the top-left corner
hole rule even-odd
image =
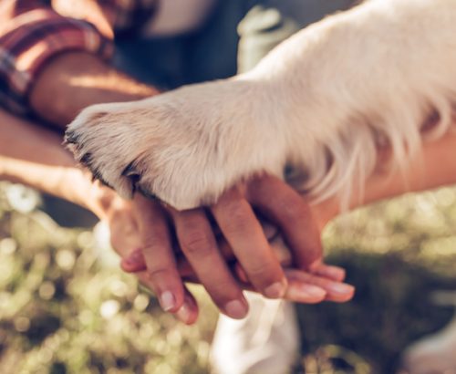
[[[297,33],[247,74],[85,109],[67,137],[121,194],[133,191],[121,175],[133,161],[140,189],[178,209],[257,172],[284,177],[286,165],[297,189],[347,203],[378,147],[405,167],[422,139],[449,130],[455,99],[456,1],[371,0]]]

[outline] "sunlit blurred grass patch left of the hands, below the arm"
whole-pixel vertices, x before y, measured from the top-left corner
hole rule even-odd
[[[202,373],[215,313],[185,327],[160,312],[93,235],[0,197],[0,372]]]

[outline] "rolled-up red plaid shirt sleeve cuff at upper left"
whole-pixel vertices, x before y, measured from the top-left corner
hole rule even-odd
[[[28,93],[47,60],[69,50],[109,57],[111,42],[91,24],[36,8],[16,16],[0,36],[0,104],[29,111]]]

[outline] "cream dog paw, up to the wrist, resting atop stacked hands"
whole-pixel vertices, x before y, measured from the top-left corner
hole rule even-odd
[[[226,80],[95,105],[69,125],[66,141],[124,197],[140,191],[177,209],[214,203],[255,172],[282,173],[280,135],[253,115],[255,89]]]

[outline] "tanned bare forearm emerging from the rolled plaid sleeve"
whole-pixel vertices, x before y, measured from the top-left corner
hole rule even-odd
[[[30,92],[30,105],[47,121],[65,128],[92,104],[144,99],[158,93],[156,88],[109,67],[87,52],[67,52],[41,71]]]

